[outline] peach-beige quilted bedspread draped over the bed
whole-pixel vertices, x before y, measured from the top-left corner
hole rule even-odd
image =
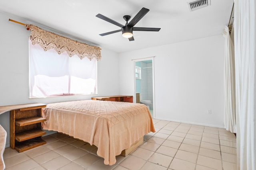
[[[116,156],[140,137],[155,132],[144,104],[81,100],[48,104],[43,108],[43,129],[65,133],[98,147],[104,164],[116,163]]]

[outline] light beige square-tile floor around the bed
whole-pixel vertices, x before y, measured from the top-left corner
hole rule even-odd
[[[116,164],[104,165],[97,148],[55,133],[46,145],[18,153],[6,148],[6,170],[236,170],[236,137],[225,129],[153,119],[156,133]]]

